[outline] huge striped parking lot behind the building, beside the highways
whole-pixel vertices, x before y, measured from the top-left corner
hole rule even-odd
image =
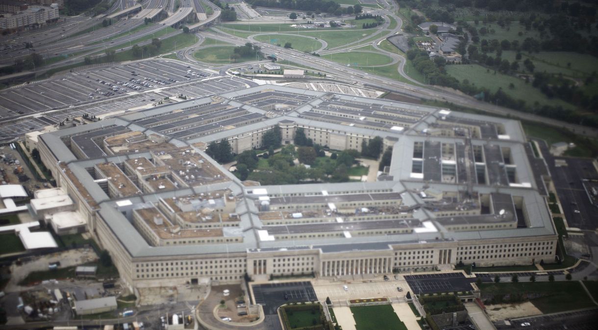
[[[3,124],[0,139],[41,130],[67,117],[149,107],[164,97],[203,97],[253,84],[228,77],[205,81],[211,75],[187,63],[148,60],[87,69],[0,91],[0,119],[45,112]]]

